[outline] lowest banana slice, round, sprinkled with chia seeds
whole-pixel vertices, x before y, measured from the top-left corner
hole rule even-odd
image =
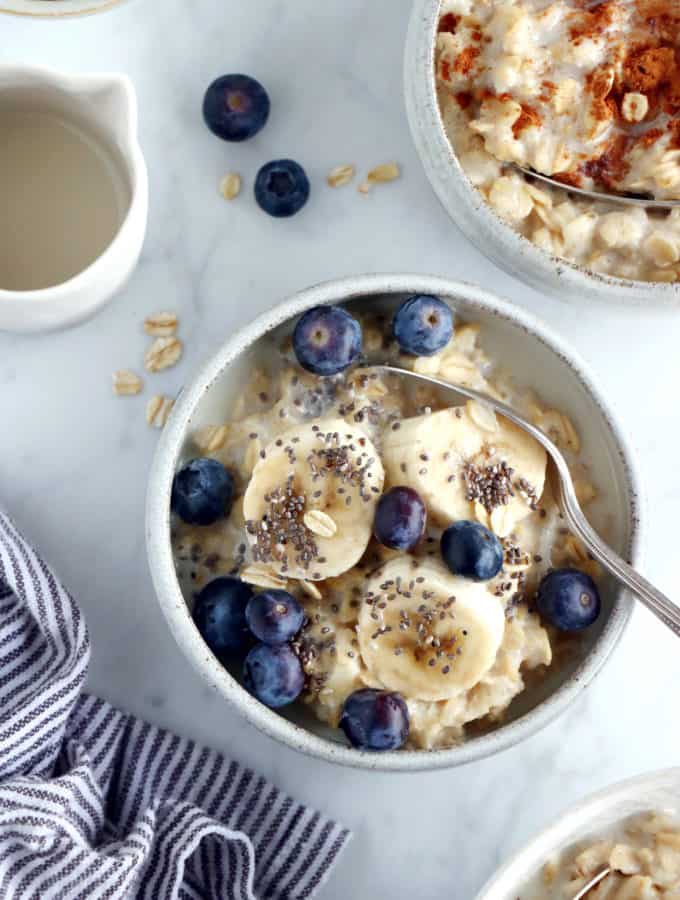
[[[402,556],[367,582],[357,631],[372,679],[410,700],[448,700],[493,666],[505,613],[484,585]]]

